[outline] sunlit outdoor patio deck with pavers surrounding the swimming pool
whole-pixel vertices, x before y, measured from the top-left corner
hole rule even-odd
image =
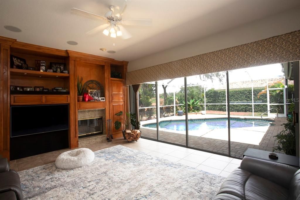
[[[226,115],[214,114],[189,114],[188,119],[211,119],[224,118]],[[231,116],[236,118],[255,118],[252,116]],[[264,117],[266,118],[266,117]],[[185,116],[171,116],[161,118],[162,120],[185,120]],[[274,119],[273,126],[256,126],[244,128],[231,128],[231,156],[242,158],[247,148],[255,148],[260,150],[272,151],[276,146],[274,135],[283,130],[282,123],[286,122],[286,118]],[[143,127],[144,124],[156,123],[156,119],[141,122],[140,130],[142,137],[157,139],[155,128]],[[228,154],[228,129],[207,129],[199,131],[189,131],[189,147],[208,150],[222,154]],[[185,131],[174,131],[167,129],[159,130],[159,140],[171,142],[174,144],[186,145]]]

